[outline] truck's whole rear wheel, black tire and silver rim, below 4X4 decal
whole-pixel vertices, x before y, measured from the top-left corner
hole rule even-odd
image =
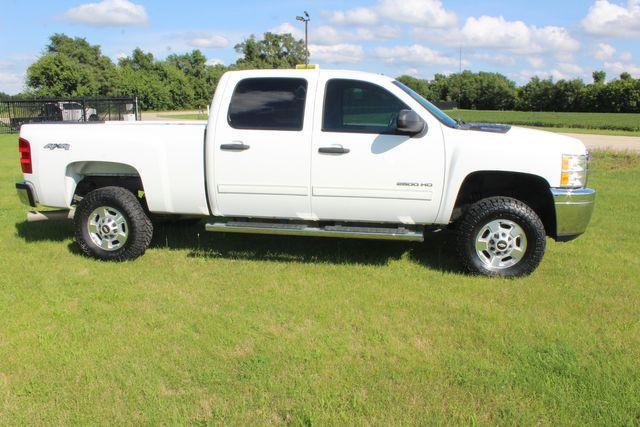
[[[138,258],[153,236],[153,225],[140,202],[121,187],[87,194],[78,203],[73,222],[82,252],[105,261]]]

